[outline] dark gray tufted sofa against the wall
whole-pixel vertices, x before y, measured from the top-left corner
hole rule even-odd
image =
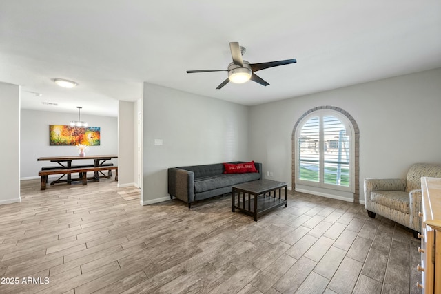
[[[254,166],[258,172],[244,174],[224,174],[223,163],[172,167],[168,169],[168,193],[170,198],[176,197],[188,203],[190,209],[194,201],[231,193],[232,185],[262,178],[262,164],[254,162]]]

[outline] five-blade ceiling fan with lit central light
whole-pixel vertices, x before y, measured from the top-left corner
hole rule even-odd
[[[240,84],[252,80],[260,85],[267,86],[269,83],[254,74],[254,72],[265,70],[265,68],[269,67],[297,62],[296,59],[287,59],[264,63],[249,63],[242,59],[242,55],[245,54],[245,47],[239,46],[238,42],[229,42],[229,50],[232,52],[233,62],[229,63],[228,70],[187,70],[187,74],[194,74],[196,72],[228,72],[228,78],[220,83],[216,89],[221,89],[223,86],[227,85],[229,81]]]

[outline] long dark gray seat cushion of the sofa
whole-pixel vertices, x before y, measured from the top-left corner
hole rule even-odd
[[[236,185],[242,182],[258,180],[260,174],[218,174],[213,176],[202,176],[194,178],[194,193],[201,193],[222,187]]]

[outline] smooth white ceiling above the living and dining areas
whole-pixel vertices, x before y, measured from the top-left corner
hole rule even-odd
[[[256,105],[441,67],[440,0],[1,0],[0,25],[0,81],[25,109],[116,116],[144,81]],[[185,72],[226,70],[230,41],[250,63],[297,63],[258,72],[267,87]]]

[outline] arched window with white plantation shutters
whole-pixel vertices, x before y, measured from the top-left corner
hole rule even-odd
[[[353,199],[355,132],[353,122],[334,109],[316,109],[294,132],[296,191]]]

